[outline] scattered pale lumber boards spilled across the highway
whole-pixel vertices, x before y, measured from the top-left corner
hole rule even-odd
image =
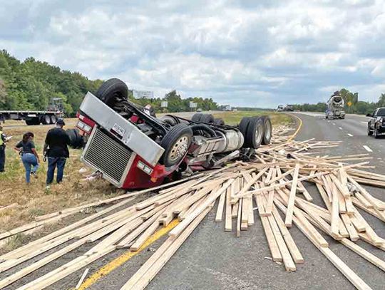
[[[34,223],[41,225],[44,221],[60,219],[87,207],[117,202],[0,256],[2,273],[66,243],[65,247],[46,254],[1,280],[0,289],[68,252],[81,248],[83,244],[94,244],[76,259],[19,288],[43,289],[116,249],[138,251],[160,227],[172,225],[168,239],[122,288],[144,289],[215,205],[215,222],[223,222],[225,231],[234,233],[236,237],[252,227],[255,219],[260,219],[272,260],[281,261],[287,271],[296,271],[296,264],[304,262],[289,231],[292,224],[295,224],[356,288],[370,289],[329,249],[323,234],[385,271],[384,261],[355,243],[361,239],[385,250],[385,239],[376,234],[358,210],[363,209],[385,221],[385,202],[378,200],[362,186],[383,187],[385,176],[366,170],[370,168],[367,161],[371,158],[369,155],[331,157],[312,151],[338,146],[338,142],[299,142],[276,135],[271,145],[257,150],[255,160],[232,162],[226,167],[205,172],[205,175],[193,175],[163,185],[157,188],[158,195],[141,202],[133,204],[133,199],[150,190],[39,217]],[[317,187],[322,204],[313,202],[314,197],[309,193],[311,185]],[[33,227],[33,224],[27,224],[4,232],[0,239]]]

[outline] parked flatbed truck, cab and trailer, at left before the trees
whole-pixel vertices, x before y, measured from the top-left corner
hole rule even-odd
[[[63,100],[52,98],[47,110],[0,110],[0,121],[25,120],[26,125],[55,124],[58,118],[63,118]]]

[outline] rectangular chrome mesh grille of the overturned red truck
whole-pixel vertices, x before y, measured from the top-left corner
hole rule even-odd
[[[132,151],[103,131],[96,129],[88,141],[83,160],[103,172],[117,184],[122,179]]]

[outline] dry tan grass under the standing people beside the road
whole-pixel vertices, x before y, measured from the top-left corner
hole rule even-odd
[[[66,128],[73,128],[76,119],[66,120]],[[47,125],[26,126],[23,122],[12,121],[4,124],[4,133],[12,135],[6,147],[6,172],[0,174],[0,207],[17,203],[17,207],[0,211],[0,232],[31,222],[34,217],[55,212],[66,207],[93,202],[117,195],[116,187],[105,180],[92,183],[82,182],[84,177],[78,170],[84,165],[79,157],[81,150],[70,150],[70,158],[64,170],[63,183],[54,184],[47,191],[45,186],[47,164],[43,162],[43,141]],[[36,150],[41,158],[38,179],[31,177],[31,185],[26,185],[25,171],[20,157],[13,150],[25,132],[35,134]],[[90,171],[86,175],[91,174]],[[11,190],[10,190],[11,189]]]

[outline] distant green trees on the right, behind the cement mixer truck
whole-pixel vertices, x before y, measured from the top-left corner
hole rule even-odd
[[[352,93],[346,88],[339,90],[340,95],[344,98],[345,108],[347,113],[364,114],[373,113],[376,108],[385,107],[385,93],[381,93],[377,102],[366,102],[359,100],[358,93]],[[293,105],[294,110],[308,111],[308,112],[324,112],[327,110],[326,102],[319,102],[317,104],[296,104]]]

